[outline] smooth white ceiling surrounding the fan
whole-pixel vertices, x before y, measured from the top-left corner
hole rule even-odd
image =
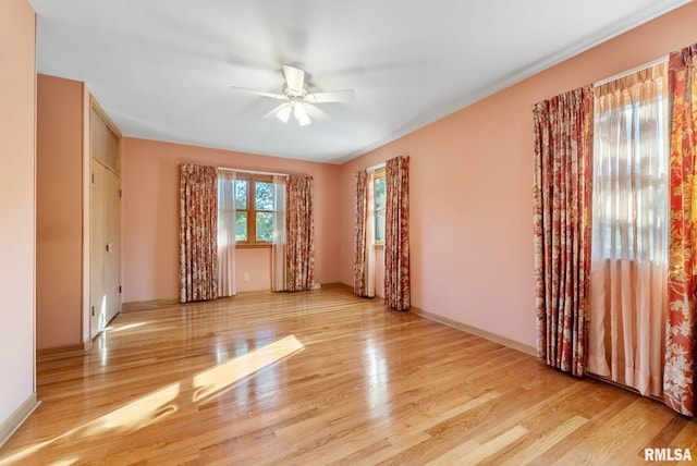
[[[29,0],[39,73],[85,82],[124,136],[340,163],[686,0]],[[281,66],[326,122],[261,116]]]

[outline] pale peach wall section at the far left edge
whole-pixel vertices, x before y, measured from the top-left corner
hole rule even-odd
[[[35,33],[26,0],[0,2],[0,431],[36,396]]]

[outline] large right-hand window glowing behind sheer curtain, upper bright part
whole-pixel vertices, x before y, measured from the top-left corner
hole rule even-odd
[[[647,73],[647,72],[645,72]],[[664,72],[596,89],[594,256],[664,263],[668,106]],[[625,85],[626,87],[622,87]]]

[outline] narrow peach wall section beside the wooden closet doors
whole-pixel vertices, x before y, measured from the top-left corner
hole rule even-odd
[[[36,346],[82,342],[83,84],[37,76]]]

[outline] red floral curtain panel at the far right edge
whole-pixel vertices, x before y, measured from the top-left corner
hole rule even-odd
[[[697,44],[671,53],[669,311],[663,400],[695,415],[695,301],[697,290]]]

